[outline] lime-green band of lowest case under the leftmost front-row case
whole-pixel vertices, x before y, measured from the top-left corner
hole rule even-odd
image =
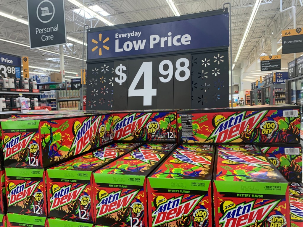
[[[46,217],[7,213],[6,220],[7,227],[47,227]]]

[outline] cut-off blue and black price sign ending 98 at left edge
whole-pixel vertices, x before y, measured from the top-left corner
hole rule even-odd
[[[20,56],[0,53],[0,76],[10,78],[21,77]]]

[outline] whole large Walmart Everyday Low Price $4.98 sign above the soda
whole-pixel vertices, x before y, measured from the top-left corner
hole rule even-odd
[[[89,29],[87,109],[228,107],[228,28],[216,10]]]

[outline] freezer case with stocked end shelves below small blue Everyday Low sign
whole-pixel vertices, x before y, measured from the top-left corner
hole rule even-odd
[[[262,87],[262,104],[286,104],[285,84],[271,84]]]

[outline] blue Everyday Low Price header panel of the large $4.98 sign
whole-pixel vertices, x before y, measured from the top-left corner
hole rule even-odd
[[[142,25],[129,28],[119,28],[106,31],[88,31],[88,60],[104,59],[104,58],[119,58],[135,55],[167,53],[173,51],[200,50],[204,48],[215,48],[229,46],[229,25],[228,13],[220,15],[212,15],[206,17],[185,19],[179,21],[171,21],[159,24]],[[130,36],[116,38],[116,34],[141,32],[140,37]],[[171,32],[171,35],[168,33]],[[100,34],[102,34],[100,36]],[[161,47],[161,37],[170,37],[171,40],[176,35],[185,34],[191,36],[190,44],[181,44],[168,46],[168,41],[165,41],[165,46]],[[158,35],[160,41],[150,48],[150,36]],[[101,40],[100,40],[101,38]],[[132,42],[133,48],[129,51],[116,52],[116,40],[119,42],[118,48],[123,48],[123,44],[127,41]],[[145,41],[144,49],[135,50],[134,42]],[[181,38],[178,39],[178,42]],[[171,41],[172,42],[172,41]],[[129,47],[129,44],[128,46]],[[102,55],[100,54],[100,48]]]

